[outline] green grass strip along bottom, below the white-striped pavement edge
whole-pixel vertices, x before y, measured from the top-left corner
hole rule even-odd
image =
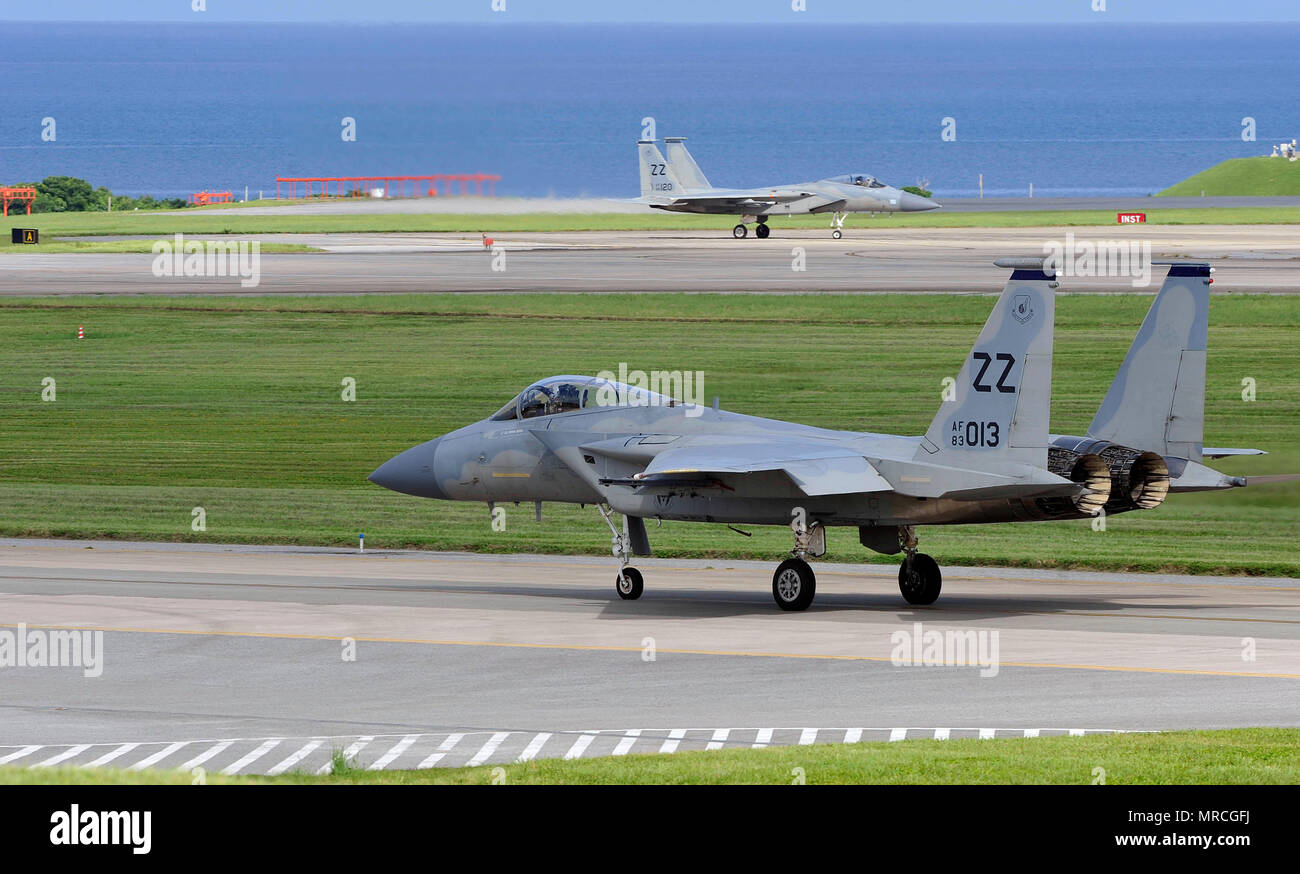
[[[905,740],[543,760],[502,769],[205,776],[213,784],[1296,784],[1300,730],[1236,728],[996,740]],[[337,757],[338,758],[338,757]],[[1097,769],[1101,769],[1098,771]],[[1104,773],[1102,773],[1104,771]],[[187,784],[179,771],[0,766],[3,784]]]

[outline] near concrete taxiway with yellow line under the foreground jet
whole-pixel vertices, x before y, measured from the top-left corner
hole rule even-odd
[[[99,676],[0,667],[0,763],[268,773],[332,748],[416,767],[1300,724],[1300,580],[952,567],[913,609],[892,566],[818,563],[812,609],[785,614],[776,558],[646,559],[623,602],[599,558],[0,540],[0,633],[104,633]],[[997,670],[896,665],[918,622],[996,640]]]

